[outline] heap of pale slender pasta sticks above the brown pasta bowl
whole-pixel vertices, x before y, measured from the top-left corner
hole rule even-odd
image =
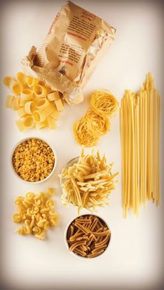
[[[69,168],[63,168],[59,175],[63,188],[62,201],[66,206],[69,203],[83,209],[103,207],[108,204],[110,192],[115,188],[115,177],[118,172],[112,173],[113,164],[106,163],[102,158],[92,152],[84,155],[83,149],[79,160]],[[63,181],[62,181],[63,179]]]

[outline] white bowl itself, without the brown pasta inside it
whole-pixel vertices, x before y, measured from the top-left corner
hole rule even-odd
[[[81,215],[79,215],[79,216],[76,216],[76,218],[79,218],[80,216],[88,216],[88,215],[89,215],[89,216],[97,216],[97,214],[90,214],[90,213],[88,213],[88,214],[81,214]],[[66,245],[67,250],[69,250],[69,245],[68,245],[68,243],[67,243],[67,230],[68,230],[68,228],[69,228],[69,225],[71,225],[71,223],[72,223],[76,218],[74,218],[74,219],[71,220],[69,223],[67,223],[67,226],[65,227],[64,240],[65,240],[65,245]],[[104,218],[101,218],[101,216],[97,216],[97,218],[100,218],[100,220],[102,220],[102,221],[106,224],[106,226],[108,227],[108,229],[110,229],[110,227],[108,226],[108,223],[106,223],[106,221],[104,220]],[[110,232],[110,240],[111,240],[111,232]],[[108,242],[108,245],[107,245],[107,247],[106,247],[106,250],[109,248],[110,240],[109,240],[109,242]],[[70,250],[69,250],[69,252],[70,252],[71,255],[73,255],[73,256],[76,257],[77,259],[81,259],[81,260],[83,260],[83,261],[92,261],[92,260],[95,260],[95,259],[99,259],[102,255],[104,255],[104,253],[106,252],[106,250],[104,250],[104,252],[102,252],[99,256],[97,256],[97,257],[92,257],[92,258],[87,258],[87,257],[82,257],[82,256],[80,256],[80,255],[76,255],[74,252],[72,252],[72,251],[70,251]]]

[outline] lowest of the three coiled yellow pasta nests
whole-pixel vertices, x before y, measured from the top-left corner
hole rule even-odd
[[[99,140],[99,136],[97,131],[95,131],[91,120],[88,120],[85,117],[74,122],[73,132],[76,142],[79,145],[85,145],[85,147],[94,146]]]

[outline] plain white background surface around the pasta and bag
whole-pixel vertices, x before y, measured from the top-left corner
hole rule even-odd
[[[21,60],[32,45],[39,46],[49,30],[56,13],[65,1],[7,1],[3,3],[1,29],[3,34],[2,76],[15,76],[21,70]],[[163,273],[163,206],[151,202],[140,210],[136,218],[131,212],[122,217],[121,154],[119,113],[111,120],[111,131],[101,138],[97,147],[106,153],[108,161],[120,171],[117,190],[110,195],[110,205],[99,209],[99,216],[110,225],[112,239],[106,254],[92,261],[74,258],[65,248],[63,234],[69,220],[76,217],[76,209],[61,204],[58,174],[74,156],[79,155],[72,134],[72,124],[88,108],[92,90],[107,88],[120,101],[124,90],[138,90],[151,71],[156,87],[163,92],[162,12],[159,1],[74,1],[106,20],[117,29],[115,42],[97,67],[83,90],[85,101],[76,107],[65,106],[56,123],[56,130],[19,133],[15,112],[4,108],[8,90],[1,93],[1,128],[3,138],[1,195],[3,217],[3,282],[15,289],[158,289]],[[10,167],[10,152],[22,138],[42,137],[54,144],[58,156],[56,172],[47,182],[31,185],[17,179]],[[86,152],[89,152],[87,149]],[[163,172],[163,168],[161,168]],[[56,211],[60,224],[49,230],[45,241],[33,236],[15,234],[17,225],[11,220],[15,212],[14,200],[27,191],[56,188]],[[82,211],[86,213],[87,211]]]

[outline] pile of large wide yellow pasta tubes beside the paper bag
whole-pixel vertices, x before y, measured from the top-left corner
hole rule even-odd
[[[5,76],[3,83],[14,94],[7,96],[6,108],[17,111],[20,118],[16,121],[19,131],[33,127],[56,128],[59,112],[64,109],[64,101],[58,91],[52,90],[40,79],[26,76],[23,72],[17,72],[16,79]]]

